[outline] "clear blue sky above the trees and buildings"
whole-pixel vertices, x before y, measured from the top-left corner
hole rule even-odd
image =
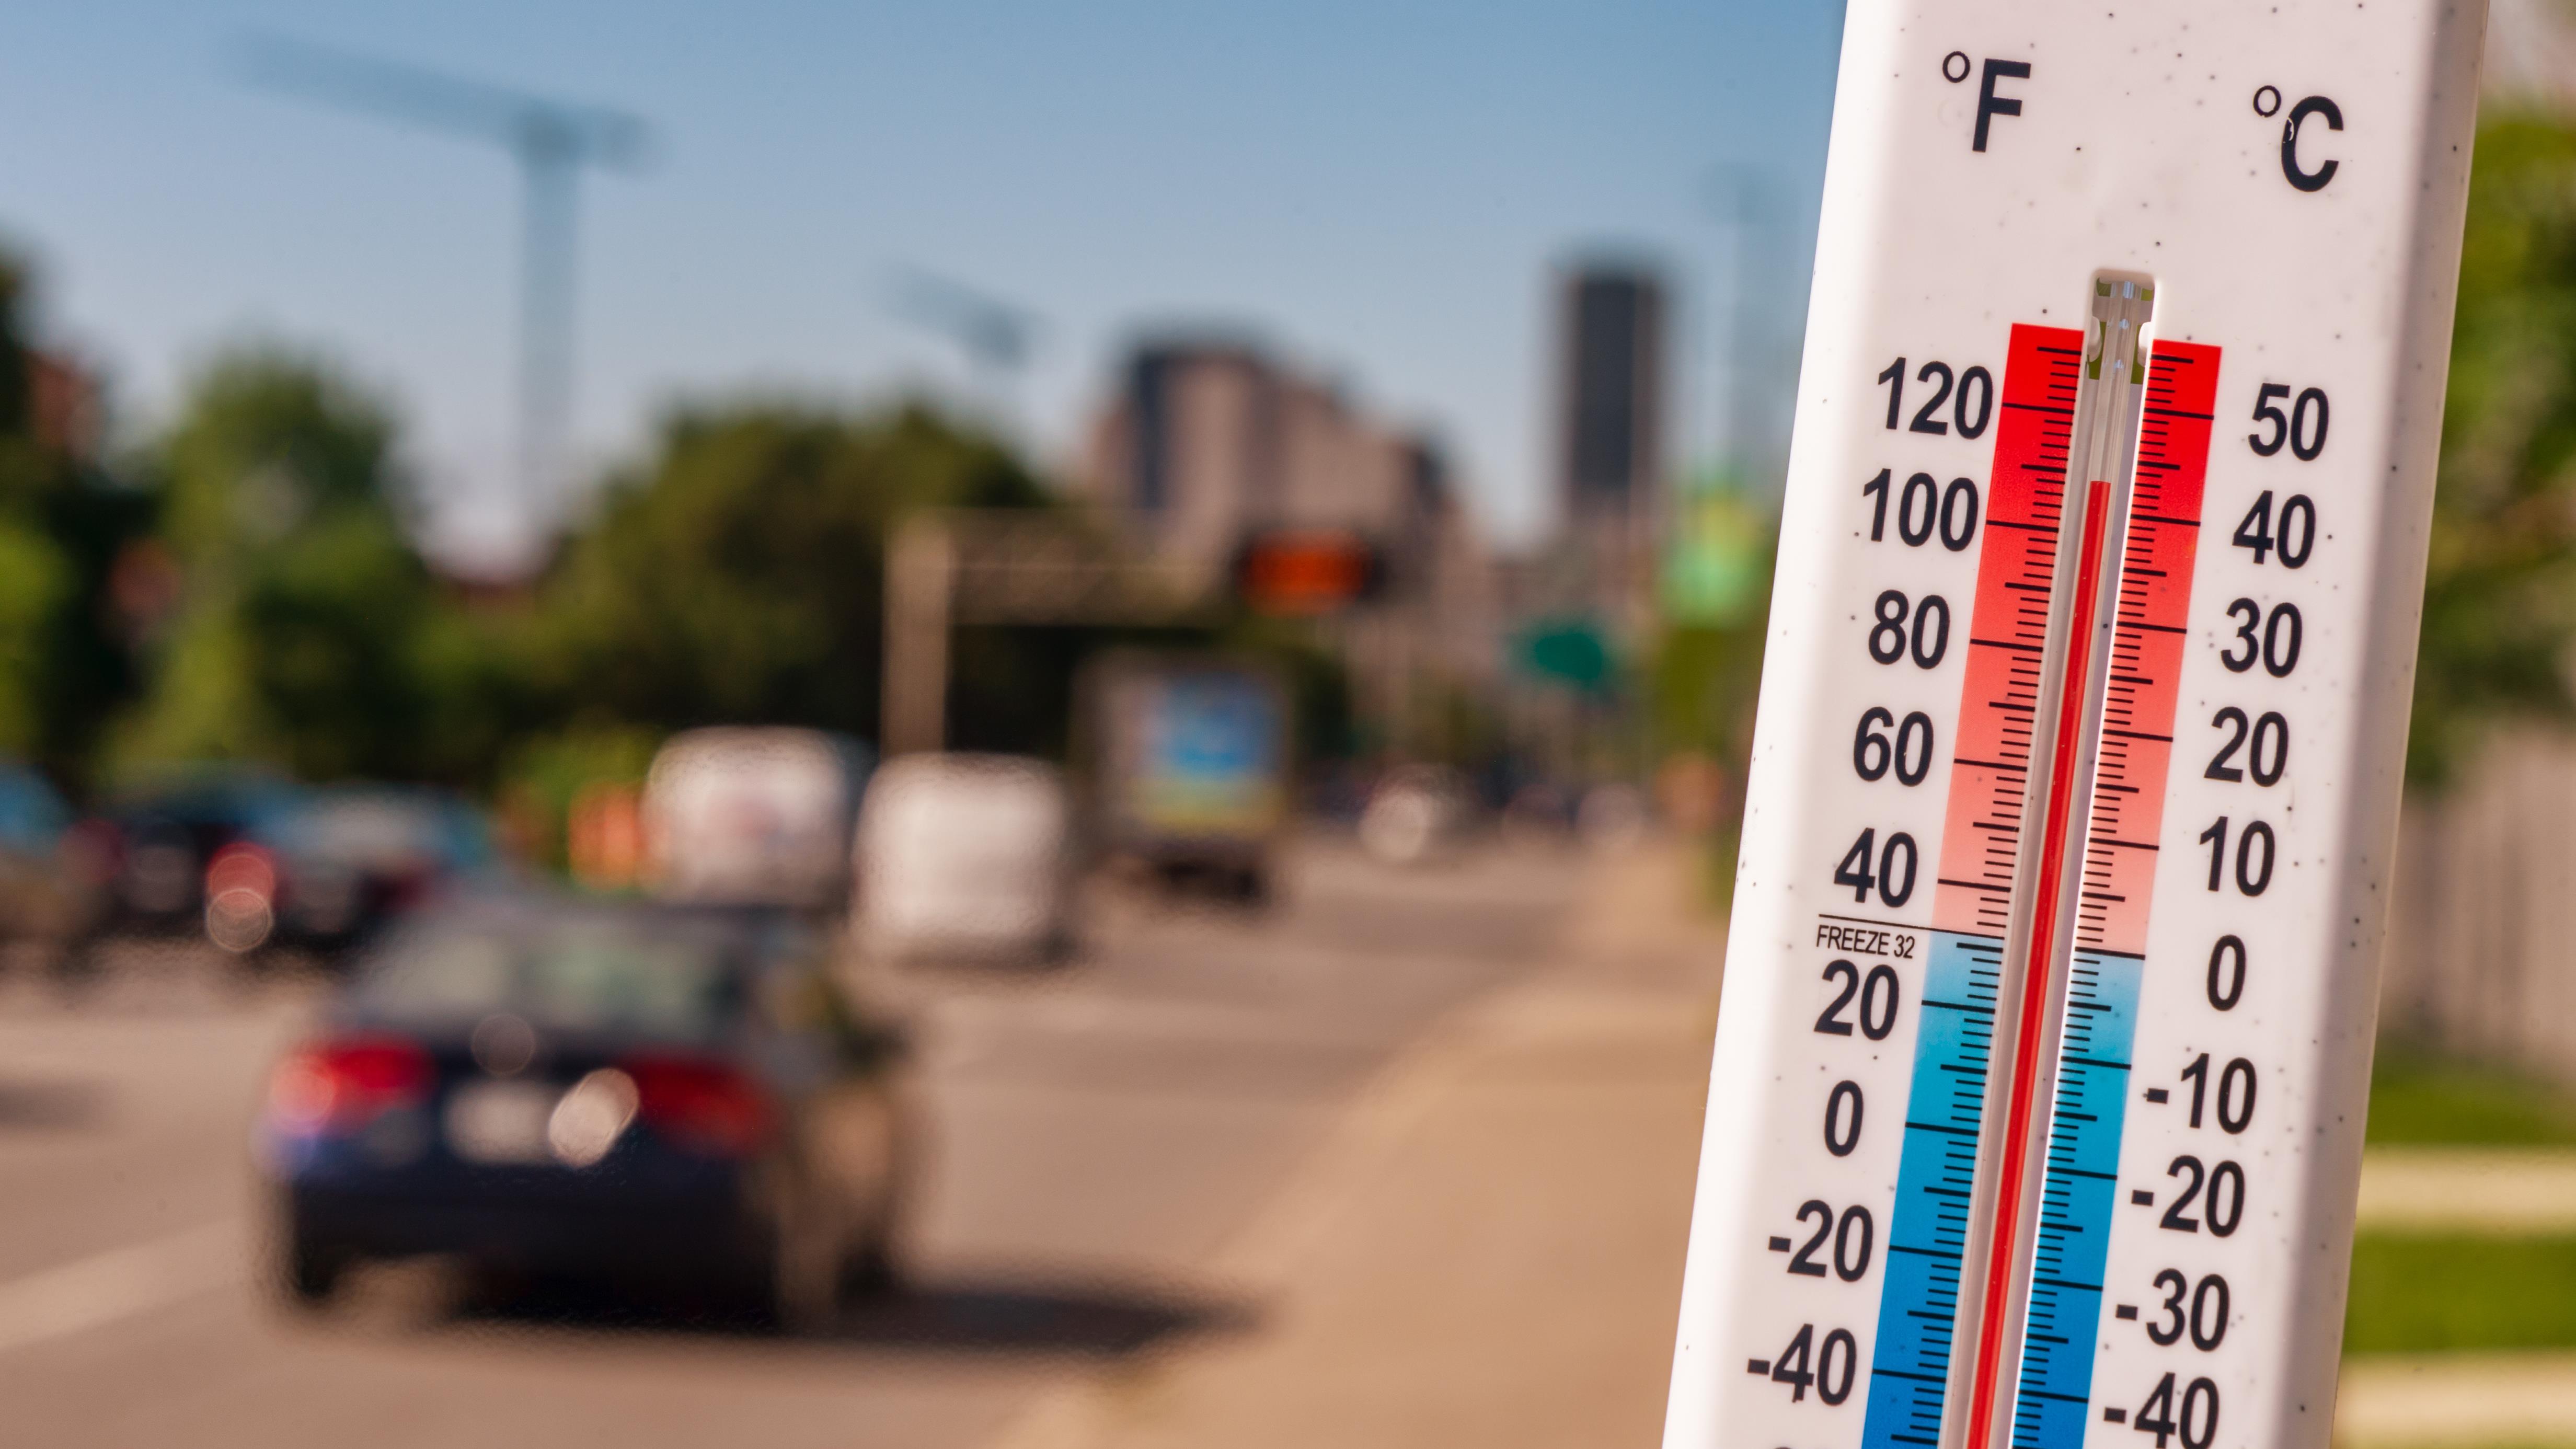
[[[165,418],[245,335],[397,402],[451,547],[513,531],[518,175],[492,147],[245,88],[252,31],[649,116],[582,193],[577,451],[680,397],[961,387],[886,309],[904,263],[1046,320],[1010,415],[1041,459],[1141,327],[1229,322],[1448,438],[1492,531],[1543,503],[1548,266],[1664,258],[1687,446],[1713,438],[1726,168],[1803,278],[1832,0],[526,5],[88,0],[0,13],[0,235],[46,327]],[[1780,286],[1775,294],[1798,289]],[[1772,302],[1783,307],[1783,302]]]

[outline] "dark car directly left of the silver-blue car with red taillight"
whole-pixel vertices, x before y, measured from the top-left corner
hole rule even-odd
[[[301,789],[255,771],[201,771],[116,797],[80,825],[106,879],[108,933],[183,936],[206,926],[216,851],[283,817]]]

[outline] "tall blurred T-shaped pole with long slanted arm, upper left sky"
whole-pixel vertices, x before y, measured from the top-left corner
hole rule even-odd
[[[523,180],[518,291],[518,485],[544,523],[572,425],[574,183],[582,168],[639,170],[652,129],[626,111],[528,95],[278,36],[242,46],[242,75],[343,111],[500,144]]]

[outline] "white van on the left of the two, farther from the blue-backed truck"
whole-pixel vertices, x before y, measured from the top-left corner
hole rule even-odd
[[[871,753],[822,730],[672,735],[644,776],[644,879],[683,905],[837,915]]]

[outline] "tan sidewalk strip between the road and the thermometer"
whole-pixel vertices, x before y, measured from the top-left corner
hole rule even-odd
[[[1569,869],[1558,964],[1406,1052],[1213,1263],[1255,1323],[1051,1395],[1002,1446],[1659,1439],[1723,936],[1677,846]]]

